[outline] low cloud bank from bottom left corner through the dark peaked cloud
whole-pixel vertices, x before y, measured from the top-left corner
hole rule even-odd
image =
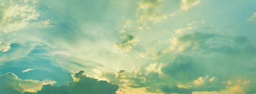
[[[116,94],[118,85],[87,77],[84,73],[80,70],[71,74],[74,81],[57,87],[52,85],[55,81],[21,80],[8,72],[0,76],[0,94]]]

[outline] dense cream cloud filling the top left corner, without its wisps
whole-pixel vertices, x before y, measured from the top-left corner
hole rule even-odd
[[[0,15],[0,31],[4,33],[23,29],[30,20],[36,20],[40,16],[34,7],[18,4],[13,0],[1,0]]]

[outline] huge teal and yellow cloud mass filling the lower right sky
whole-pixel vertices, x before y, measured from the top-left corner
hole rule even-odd
[[[256,47],[247,37],[193,32],[172,38],[171,43],[169,48],[159,51],[153,61],[132,72],[120,70],[102,76],[122,86],[121,90],[191,94],[222,90],[232,93],[239,88],[237,92],[255,93]],[[228,84],[237,78],[250,81]]]

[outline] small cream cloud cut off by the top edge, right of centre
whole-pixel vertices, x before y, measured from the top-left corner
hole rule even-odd
[[[200,0],[181,0],[182,4],[180,9],[187,11],[192,6],[198,5],[200,3]]]

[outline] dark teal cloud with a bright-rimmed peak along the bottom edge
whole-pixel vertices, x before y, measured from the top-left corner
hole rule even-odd
[[[116,94],[118,85],[87,77],[84,73],[84,70],[80,70],[71,74],[74,81],[68,82],[68,85],[43,85],[42,90],[38,90],[36,94]]]

